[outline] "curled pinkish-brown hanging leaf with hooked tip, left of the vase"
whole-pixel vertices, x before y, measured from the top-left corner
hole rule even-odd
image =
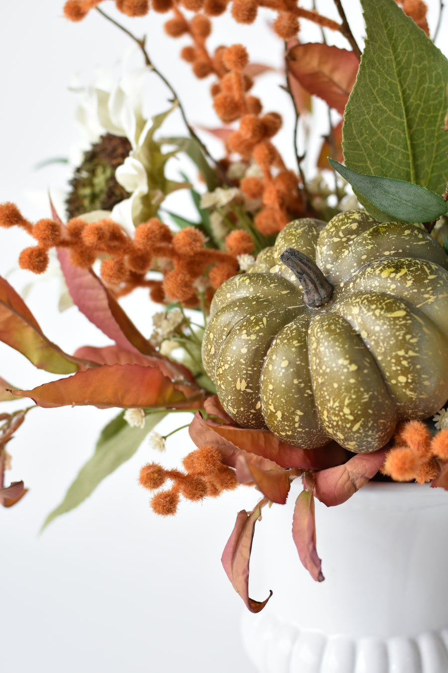
[[[228,579],[251,612],[263,610],[272,596],[272,591],[270,591],[269,596],[261,602],[249,598],[249,561],[251,559],[255,524],[260,516],[261,503],[251,513],[247,513],[245,509],[238,512],[234,529],[221,557],[221,563]]]

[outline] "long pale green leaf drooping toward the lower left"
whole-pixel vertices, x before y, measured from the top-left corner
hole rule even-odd
[[[134,456],[144,437],[167,415],[166,411],[146,416],[144,427],[131,427],[124,411],[112,419],[99,435],[95,453],[81,468],[64,500],[46,518],[42,530],[56,517],[80,505],[108,474]],[[42,532],[41,530],[41,532]]]

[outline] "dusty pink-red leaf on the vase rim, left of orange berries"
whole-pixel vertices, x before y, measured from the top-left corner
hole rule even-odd
[[[384,463],[387,448],[357,454],[345,464],[314,474],[316,497],[327,505],[341,505],[367,484]]]

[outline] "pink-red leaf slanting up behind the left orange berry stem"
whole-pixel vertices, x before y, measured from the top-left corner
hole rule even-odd
[[[58,250],[58,260],[73,302],[86,318],[124,349],[146,355],[156,353],[91,269],[73,267],[68,250],[62,248]]]

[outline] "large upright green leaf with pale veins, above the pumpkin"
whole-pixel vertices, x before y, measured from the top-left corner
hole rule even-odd
[[[394,0],[361,5],[367,39],[345,108],[345,164],[441,194],[447,180],[448,133],[442,127],[448,61]],[[360,201],[369,210],[365,198]]]

